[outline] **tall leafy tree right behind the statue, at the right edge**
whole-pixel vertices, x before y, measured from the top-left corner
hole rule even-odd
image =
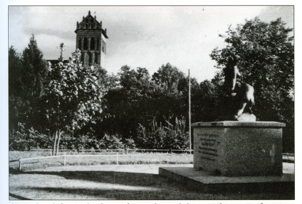
[[[244,81],[255,89],[255,114],[261,121],[290,123],[293,116],[293,37],[292,29],[285,28],[281,19],[265,23],[258,18],[246,20],[236,29],[229,27],[226,36],[220,35],[228,45],[210,54],[217,68],[225,68],[227,59],[240,55],[239,69]],[[291,103],[288,104],[288,102]]]

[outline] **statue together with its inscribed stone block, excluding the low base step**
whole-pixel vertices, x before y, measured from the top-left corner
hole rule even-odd
[[[230,56],[224,68],[220,119],[228,120],[192,124],[194,168],[223,176],[282,175],[285,124],[256,121],[251,109],[254,88],[244,83],[239,60],[238,55]]]

